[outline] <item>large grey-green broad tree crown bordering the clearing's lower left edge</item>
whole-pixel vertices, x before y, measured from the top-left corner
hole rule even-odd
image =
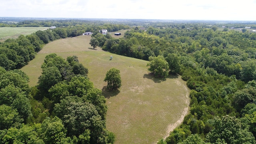
[[[63,120],[69,136],[79,136],[90,130],[90,142],[98,143],[105,137],[105,121],[101,119],[95,106],[82,102],[78,97],[66,97],[54,107],[56,116]]]

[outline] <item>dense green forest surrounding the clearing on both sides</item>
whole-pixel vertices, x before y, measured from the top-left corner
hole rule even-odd
[[[250,32],[256,24],[32,20],[2,25],[46,23],[57,28],[0,44],[0,143],[114,142],[105,126],[106,100],[76,56],[46,56],[38,86],[32,88],[18,70],[44,44],[87,31],[94,32],[103,50],[150,64],[159,60],[168,66],[155,76],[179,74],[187,81],[190,113],[159,144],[256,143],[256,32]],[[100,34],[101,29],[129,30],[116,39]]]

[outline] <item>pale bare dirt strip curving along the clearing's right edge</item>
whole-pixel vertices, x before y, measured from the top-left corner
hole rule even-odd
[[[180,84],[180,82],[179,82],[179,84]],[[183,122],[185,116],[188,114],[188,108],[189,108],[189,97],[188,96],[189,96],[189,92],[188,92],[188,88],[185,85],[182,85],[182,86],[186,90],[186,100],[185,101],[186,101],[187,106],[186,106],[186,108],[184,108],[184,110],[182,112],[182,115],[180,116],[180,119],[178,121],[176,121],[174,124],[170,124],[168,126],[166,134],[163,138],[164,140],[170,135],[170,132],[172,132],[174,130],[174,128],[176,128],[177,126],[179,126]]]

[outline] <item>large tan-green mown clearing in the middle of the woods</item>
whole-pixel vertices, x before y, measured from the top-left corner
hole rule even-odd
[[[147,70],[147,61],[104,52],[99,47],[94,50],[89,40],[90,36],[78,36],[44,46],[21,69],[30,77],[30,86],[36,85],[47,54],[54,52],[63,58],[76,55],[88,68],[94,86],[106,97],[106,126],[116,135],[116,144],[152,144],[168,136],[188,112],[186,82],[178,75],[166,80],[154,78]],[[110,68],[119,69],[122,78],[121,88],[114,93],[105,90],[107,83],[103,81]]]

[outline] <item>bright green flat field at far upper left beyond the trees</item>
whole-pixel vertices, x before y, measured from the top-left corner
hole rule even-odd
[[[49,27],[2,27],[0,28],[0,41],[8,38],[18,38],[19,35],[28,35],[38,30],[45,30]]]

